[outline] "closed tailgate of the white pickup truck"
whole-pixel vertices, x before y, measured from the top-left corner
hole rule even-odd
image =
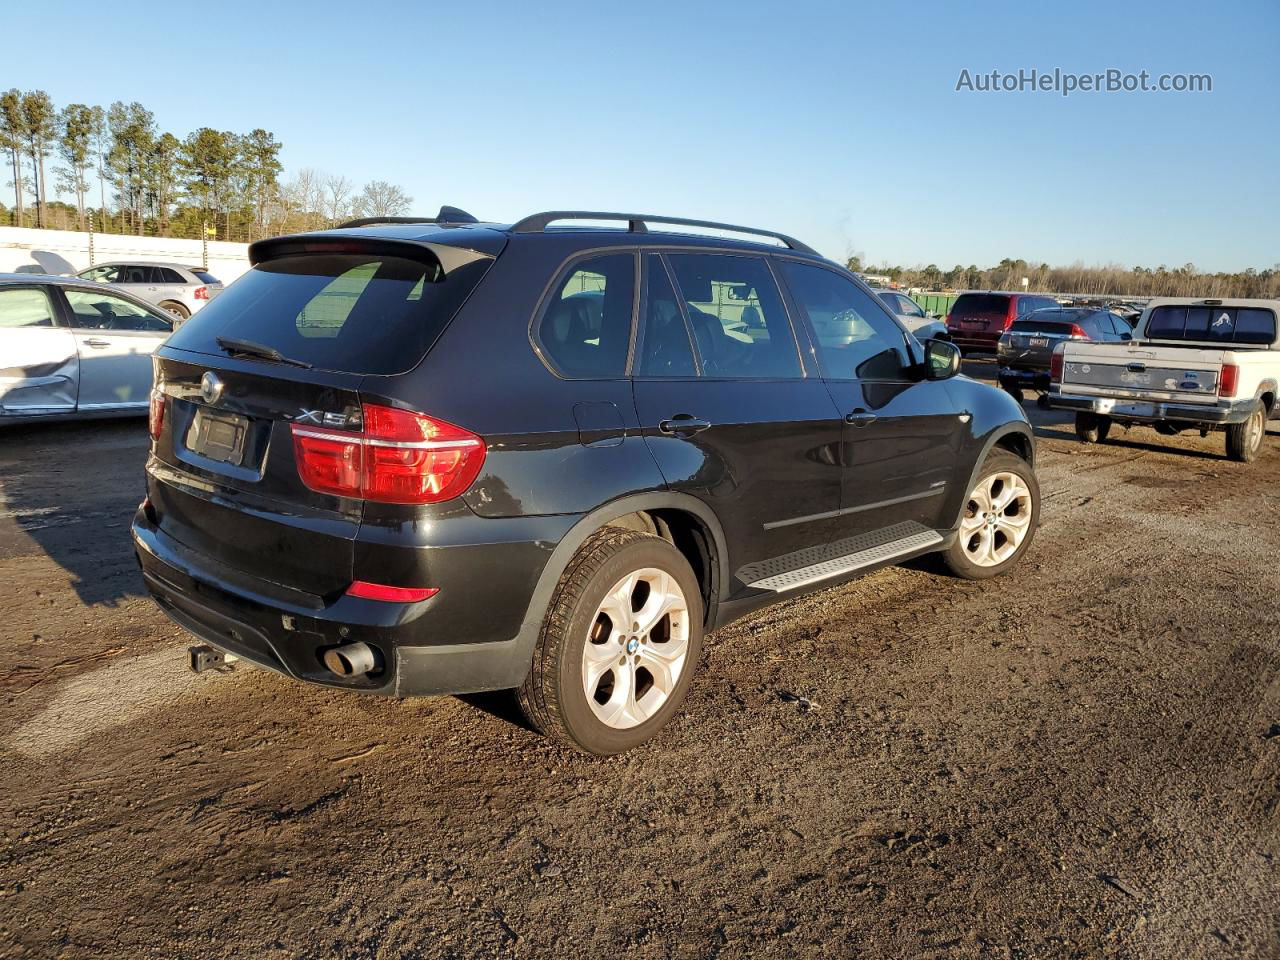
[[[1185,356],[1179,356],[1185,355]],[[1062,389],[1078,393],[1210,403],[1217,399],[1221,352],[1149,347],[1066,348]]]

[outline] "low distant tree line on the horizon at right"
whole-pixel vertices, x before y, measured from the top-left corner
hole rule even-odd
[[[1070,266],[1028,264],[1025,260],[1001,260],[996,266],[960,266],[941,270],[928,266],[864,266],[860,256],[851,256],[847,266],[854,273],[888,276],[904,287],[928,291],[1020,291],[1043,293],[1114,294],[1128,297],[1280,297],[1280,264],[1265,270],[1247,268],[1235,273],[1208,273],[1194,264],[1183,266]]]

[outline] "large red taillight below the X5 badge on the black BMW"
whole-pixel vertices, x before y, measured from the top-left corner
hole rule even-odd
[[[293,424],[302,483],[317,493],[381,503],[443,503],[484,466],[484,440],[443,420],[366,403],[365,429]]]

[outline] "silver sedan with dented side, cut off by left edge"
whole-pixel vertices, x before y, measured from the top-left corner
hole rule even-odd
[[[102,284],[0,274],[0,425],[146,413],[173,323]]]

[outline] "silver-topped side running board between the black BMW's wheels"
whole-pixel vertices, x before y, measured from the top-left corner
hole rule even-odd
[[[783,593],[941,544],[942,535],[937,530],[913,522],[895,524],[870,534],[749,563],[737,572],[737,579],[755,590]]]

